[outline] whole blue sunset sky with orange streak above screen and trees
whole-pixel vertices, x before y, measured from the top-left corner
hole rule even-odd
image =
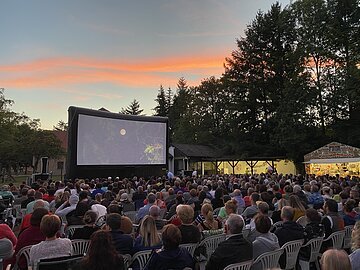
[[[0,88],[44,129],[67,121],[69,106],[119,112],[135,98],[152,115],[160,84],[220,76],[236,38],[274,2],[1,1]]]

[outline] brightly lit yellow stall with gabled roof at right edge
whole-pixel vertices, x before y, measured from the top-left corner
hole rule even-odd
[[[308,174],[359,176],[360,149],[332,142],[306,154],[304,164]]]

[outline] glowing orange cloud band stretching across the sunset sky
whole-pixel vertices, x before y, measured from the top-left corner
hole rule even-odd
[[[33,88],[110,82],[130,87],[174,85],[180,76],[198,78],[220,75],[223,55],[182,56],[143,61],[93,58],[49,58],[28,63],[0,65],[5,87]],[[181,75],[179,75],[181,74]]]

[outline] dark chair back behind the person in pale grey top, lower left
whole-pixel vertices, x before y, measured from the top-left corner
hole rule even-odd
[[[82,258],[83,258],[82,255],[76,255],[76,256],[64,256],[58,258],[42,259],[35,262],[34,270],[71,269],[71,266],[75,265]]]

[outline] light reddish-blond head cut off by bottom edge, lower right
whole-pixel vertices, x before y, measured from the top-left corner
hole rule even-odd
[[[351,270],[348,254],[344,250],[328,249],[321,256],[322,270]]]

